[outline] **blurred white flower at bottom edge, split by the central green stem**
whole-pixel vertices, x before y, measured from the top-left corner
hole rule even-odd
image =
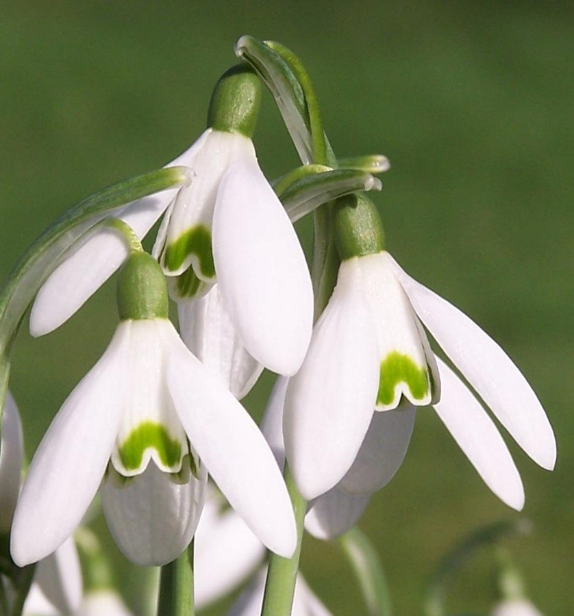
[[[245,589],[229,611],[229,616],[258,616],[263,604],[266,571],[262,569],[251,585]],[[297,574],[291,616],[331,616],[310,589],[301,574]]]

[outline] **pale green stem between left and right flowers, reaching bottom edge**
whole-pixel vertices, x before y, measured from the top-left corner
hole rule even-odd
[[[290,559],[284,559],[282,556],[277,556],[277,554],[271,552],[261,616],[291,615],[295,583],[297,582],[297,572],[299,571],[299,557],[301,556],[301,542],[303,541],[303,521],[307,511],[307,503],[299,494],[297,487],[295,487],[295,481],[287,463],[285,464],[283,476],[293,504],[293,511],[295,511],[297,547]]]

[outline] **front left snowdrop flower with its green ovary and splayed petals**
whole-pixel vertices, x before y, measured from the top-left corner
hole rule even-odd
[[[195,531],[208,471],[260,541],[290,556],[295,519],[273,454],[177,335],[163,274],[146,253],[123,267],[118,311],[110,345],[36,451],[14,514],[14,561],[53,552],[102,479],[104,513],[126,556],[172,561]]]

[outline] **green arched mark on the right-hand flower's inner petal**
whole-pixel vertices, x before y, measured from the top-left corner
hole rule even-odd
[[[408,355],[390,352],[381,362],[377,405],[390,405],[395,399],[395,387],[406,383],[415,400],[423,400],[429,391],[429,378],[425,368],[419,368]]]

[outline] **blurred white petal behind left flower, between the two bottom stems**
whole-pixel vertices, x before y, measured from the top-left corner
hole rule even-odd
[[[201,609],[233,591],[263,559],[265,549],[231,509],[208,498],[195,532],[195,607]]]

